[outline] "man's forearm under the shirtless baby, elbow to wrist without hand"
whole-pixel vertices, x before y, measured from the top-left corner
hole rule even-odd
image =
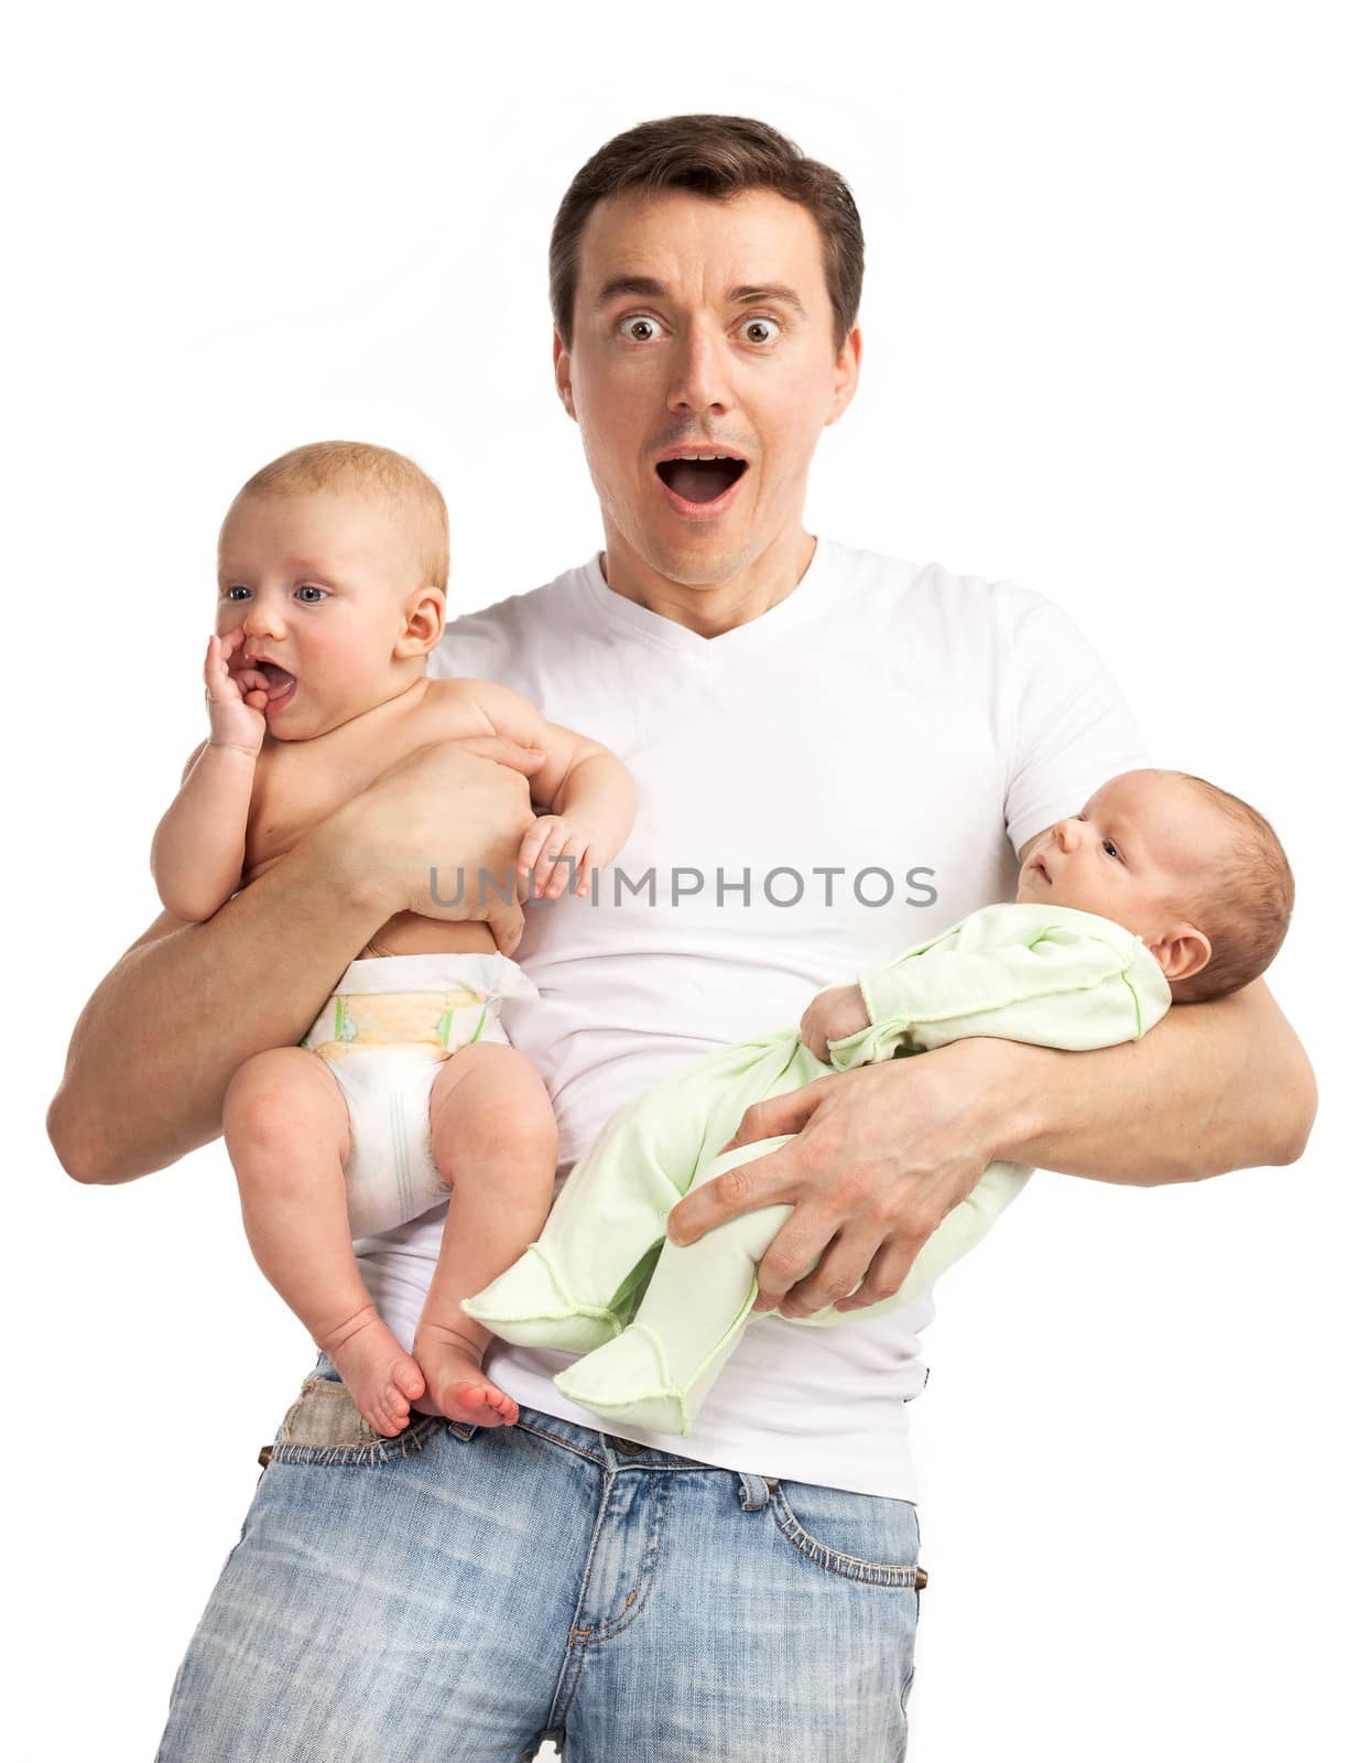
[[[157,919],[70,1037],[48,1112],[67,1172],[130,1181],[213,1139],[236,1067],[299,1040],[387,913],[301,844],[206,924]]]

